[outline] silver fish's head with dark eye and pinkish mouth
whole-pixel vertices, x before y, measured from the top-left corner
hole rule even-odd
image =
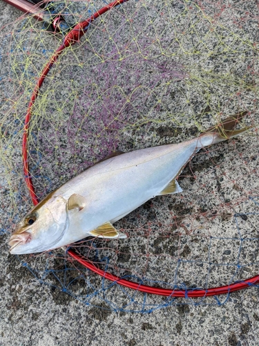
[[[66,199],[50,194],[19,222],[10,237],[10,253],[23,255],[55,248],[67,226]]]

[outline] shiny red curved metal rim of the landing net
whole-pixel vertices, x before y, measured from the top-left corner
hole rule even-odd
[[[32,199],[32,203],[34,206],[37,206],[39,203],[39,199],[37,198],[37,195],[35,194],[35,187],[32,183],[32,176],[30,175],[30,169],[29,169],[29,163],[28,163],[28,132],[30,129],[30,118],[32,116],[32,106],[37,99],[37,95],[39,93],[39,89],[41,88],[41,85],[43,84],[46,76],[48,75],[48,72],[52,68],[53,64],[57,61],[59,55],[66,49],[68,46],[71,46],[75,44],[76,42],[79,42],[79,39],[84,33],[86,33],[88,27],[90,24],[103,15],[104,13],[108,12],[108,10],[111,10],[112,8],[115,8],[116,6],[121,5],[122,3],[127,2],[128,0],[115,0],[111,3],[108,3],[107,6],[104,6],[97,12],[95,12],[92,16],[90,16],[85,21],[81,21],[81,23],[77,24],[66,36],[64,37],[64,42],[57,48],[55,53],[50,58],[49,62],[44,67],[43,71],[41,72],[41,76],[39,77],[39,80],[37,81],[37,84],[35,86],[35,89],[32,91],[32,95],[30,98],[30,102],[28,104],[28,109],[26,113],[26,117],[24,120],[23,125],[23,138],[22,138],[22,159],[23,159],[23,174],[24,179],[26,181],[27,188],[29,190],[30,197]],[[243,280],[242,282],[234,282],[233,284],[228,284],[226,286],[218,286],[218,287],[212,287],[210,289],[162,289],[162,288],[156,288],[153,286],[148,286],[144,284],[137,284],[136,282],[132,282],[131,280],[126,280],[122,277],[115,276],[111,273],[107,273],[106,271],[103,271],[102,269],[95,266],[93,263],[88,262],[84,257],[81,257],[78,255],[73,249],[68,248],[67,253],[77,262],[79,262],[84,267],[88,268],[90,271],[93,271],[94,273],[97,273],[98,275],[104,277],[107,280],[111,280],[112,282],[115,282],[116,284],[126,286],[130,289],[134,289],[135,291],[142,291],[144,293],[154,294],[154,295],[164,295],[169,297],[175,297],[175,298],[198,298],[198,297],[206,297],[206,296],[213,296],[213,295],[220,295],[220,294],[229,294],[233,291],[239,291],[241,289],[245,289],[249,286],[255,286],[259,283],[259,275],[256,275],[254,277],[250,277],[247,280]]]

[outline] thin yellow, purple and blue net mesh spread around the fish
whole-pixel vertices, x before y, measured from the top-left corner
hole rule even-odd
[[[51,10],[74,26],[104,4],[54,1]],[[64,37],[32,16],[1,29],[0,236],[7,253],[10,233],[32,207],[21,160],[24,117]],[[244,110],[246,124],[256,127],[258,30],[253,1],[129,0],[93,21],[52,66],[32,107],[28,160],[37,197],[118,149],[180,143]],[[151,199],[115,224],[127,239],[86,238],[71,247],[108,273],[165,289],[257,275],[256,129],[203,149],[178,181],[182,193]],[[103,309],[143,313],[228,298],[133,291],[84,268],[64,248],[15,258],[57,300],[70,296]]]

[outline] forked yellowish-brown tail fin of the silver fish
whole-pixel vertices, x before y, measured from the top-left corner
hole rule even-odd
[[[222,120],[218,125],[210,127],[198,138],[198,147],[207,147],[208,145],[220,143],[223,140],[238,136],[244,131],[248,131],[253,126],[242,127],[235,129],[236,125],[240,124],[240,120],[246,116],[248,111],[242,111]]]

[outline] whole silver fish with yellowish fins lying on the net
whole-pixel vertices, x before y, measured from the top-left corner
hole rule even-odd
[[[182,192],[177,181],[203,147],[251,129],[236,129],[248,112],[231,116],[183,143],[116,152],[61,185],[17,224],[10,253],[41,253],[86,237],[124,239],[113,224],[156,196]]]

